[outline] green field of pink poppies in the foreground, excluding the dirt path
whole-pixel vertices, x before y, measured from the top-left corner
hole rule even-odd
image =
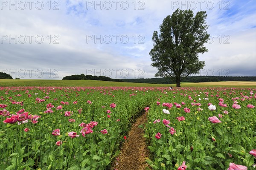
[[[0,87],[0,169],[108,170],[135,119],[152,169],[256,166],[256,89]],[[239,169],[240,168],[240,169]]]

